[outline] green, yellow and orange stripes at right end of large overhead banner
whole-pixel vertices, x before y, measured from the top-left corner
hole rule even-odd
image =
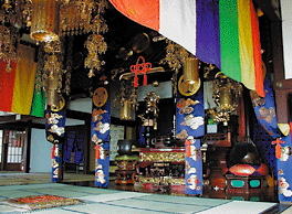
[[[264,97],[259,21],[252,1],[220,0],[221,71]]]

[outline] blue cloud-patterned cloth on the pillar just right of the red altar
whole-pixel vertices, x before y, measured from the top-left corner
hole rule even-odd
[[[177,93],[176,138],[186,140],[186,194],[202,194],[200,137],[205,135],[202,87],[192,96]]]

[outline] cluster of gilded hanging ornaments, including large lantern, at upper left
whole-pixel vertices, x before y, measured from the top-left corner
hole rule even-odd
[[[38,92],[40,88],[48,92],[48,103],[56,106],[60,100],[62,101],[62,93],[70,94],[73,35],[88,36],[84,44],[88,51],[84,63],[84,67],[90,68],[88,77],[94,76],[95,69],[100,71],[105,63],[101,62],[98,56],[107,50],[102,36],[108,30],[103,18],[107,4],[106,0],[2,1],[0,60],[8,62],[7,72],[11,71],[10,61],[18,61],[17,46],[23,34],[21,30],[30,30],[31,39],[36,41],[41,52],[38,57],[35,88]],[[65,36],[69,38],[67,53],[63,52]]]

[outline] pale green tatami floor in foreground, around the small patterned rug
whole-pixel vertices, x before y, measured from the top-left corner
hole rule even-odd
[[[9,191],[9,188],[11,190]],[[29,213],[1,203],[9,197],[20,197],[35,194],[53,194],[83,200],[84,204],[61,206],[33,211],[33,214],[258,214],[271,208],[277,203],[240,202],[231,200],[216,200],[190,196],[158,195],[150,193],[114,191],[69,184],[29,184],[0,186],[0,213]]]

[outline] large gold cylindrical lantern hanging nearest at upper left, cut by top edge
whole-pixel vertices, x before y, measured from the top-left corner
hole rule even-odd
[[[32,39],[41,42],[59,40],[60,2],[58,0],[32,0]]]

